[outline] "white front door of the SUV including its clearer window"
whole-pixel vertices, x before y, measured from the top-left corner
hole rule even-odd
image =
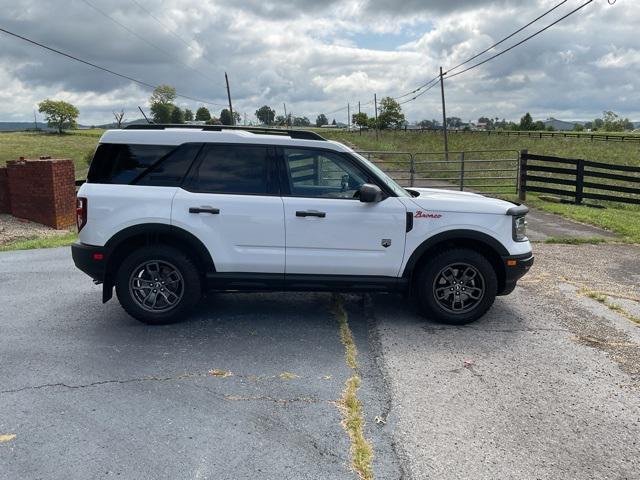
[[[360,202],[360,186],[372,179],[347,155],[283,150],[285,273],[396,277],[406,231],[402,202]]]

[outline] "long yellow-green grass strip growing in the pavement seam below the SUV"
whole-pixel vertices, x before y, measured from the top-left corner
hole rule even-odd
[[[351,377],[345,382],[342,398],[338,407],[342,413],[342,426],[351,439],[351,465],[358,476],[363,480],[373,479],[373,448],[364,436],[364,417],[362,414],[362,402],[358,399],[358,389],[361,379],[358,374],[358,351],[353,334],[349,328],[347,311],[344,308],[342,298],[333,297],[333,314],[340,325],[340,341],[345,347],[345,361],[352,370]]]

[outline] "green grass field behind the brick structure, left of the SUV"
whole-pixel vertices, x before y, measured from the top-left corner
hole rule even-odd
[[[0,132],[0,166],[20,157],[70,158],[76,178],[87,174],[87,155],[93,154],[104,130],[72,130],[59,135],[47,132]]]

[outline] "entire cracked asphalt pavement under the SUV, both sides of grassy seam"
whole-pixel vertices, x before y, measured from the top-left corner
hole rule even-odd
[[[640,478],[640,327],[582,294],[640,315],[640,247],[535,251],[466,327],[346,297],[375,478]],[[1,253],[0,478],[356,479],[330,302],[219,294],[148,327],[67,249]]]

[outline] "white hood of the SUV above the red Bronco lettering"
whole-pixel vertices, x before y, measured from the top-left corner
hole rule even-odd
[[[420,195],[411,201],[425,210],[460,213],[492,213],[505,215],[514,206],[511,202],[484,197],[477,193],[456,192],[438,188],[408,188]]]

